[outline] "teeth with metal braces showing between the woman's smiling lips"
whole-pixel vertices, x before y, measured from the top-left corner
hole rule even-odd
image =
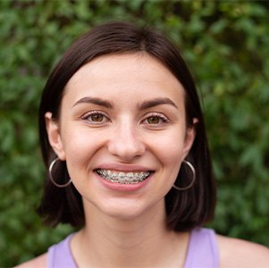
[[[96,170],[97,174],[105,180],[121,184],[135,184],[146,180],[151,172],[114,172],[109,170]]]

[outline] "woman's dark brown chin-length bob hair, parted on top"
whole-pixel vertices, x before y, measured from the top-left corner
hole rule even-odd
[[[51,112],[54,120],[59,119],[65,85],[84,64],[105,54],[139,53],[156,58],[181,82],[185,90],[187,125],[193,126],[193,118],[198,118],[195,126],[197,135],[186,158],[196,169],[197,178],[192,188],[185,191],[171,188],[165,196],[167,227],[175,231],[191,230],[212,220],[215,205],[212,164],[203,114],[189,69],[179,51],[163,35],[151,29],[140,29],[126,22],[115,21],[91,29],[73,43],[56,65],[43,91],[39,107],[39,138],[46,164],[46,183],[38,214],[51,226],[70,223],[80,228],[85,224],[85,216],[82,199],[76,188],[72,184],[66,188],[57,188],[49,180],[47,168],[56,155],[47,138],[45,113]],[[70,180],[65,162],[55,163],[54,179],[60,184]],[[183,163],[176,185],[184,187],[191,180],[192,173]]]

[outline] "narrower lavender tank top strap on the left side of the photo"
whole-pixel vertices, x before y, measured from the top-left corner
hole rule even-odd
[[[58,244],[48,248],[47,268],[76,268],[77,265],[71,255],[70,239],[74,234],[69,235]]]

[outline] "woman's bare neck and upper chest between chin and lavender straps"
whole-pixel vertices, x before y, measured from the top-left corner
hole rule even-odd
[[[175,254],[177,267],[183,265],[189,236],[166,229],[164,204],[162,213],[153,209],[132,219],[101,215],[95,209],[89,214],[87,227],[71,244],[79,267],[168,267],[165,262],[172,263]]]

